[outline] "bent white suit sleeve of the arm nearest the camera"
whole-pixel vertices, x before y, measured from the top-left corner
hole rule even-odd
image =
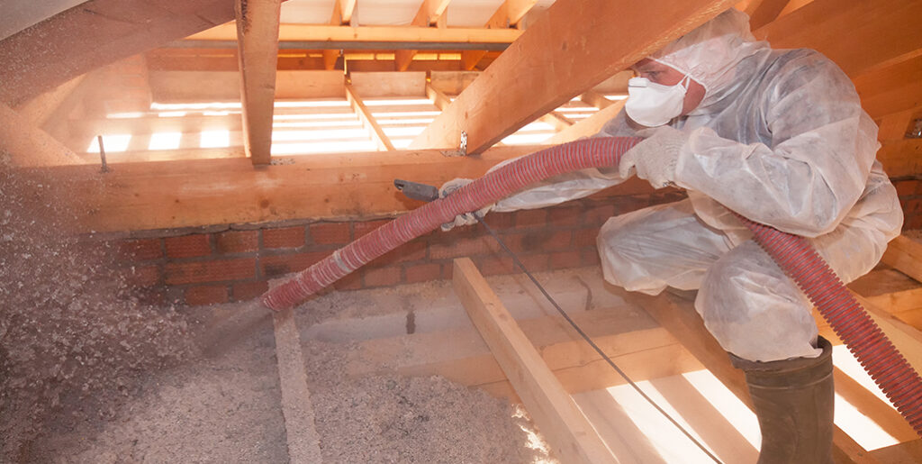
[[[829,60],[814,55],[786,66],[792,68],[761,107],[748,109],[762,112],[772,146],[694,129],[680,152],[676,184],[751,220],[815,237],[831,232],[861,196],[879,147],[877,126]]]

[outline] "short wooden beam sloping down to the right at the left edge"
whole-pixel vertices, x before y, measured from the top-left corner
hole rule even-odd
[[[0,103],[0,153],[8,154],[12,165],[18,167],[84,163],[61,142],[3,103]]]

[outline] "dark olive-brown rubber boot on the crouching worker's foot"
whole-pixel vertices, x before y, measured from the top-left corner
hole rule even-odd
[[[758,363],[730,354],[762,429],[759,464],[833,462],[833,345],[817,344],[818,358]]]

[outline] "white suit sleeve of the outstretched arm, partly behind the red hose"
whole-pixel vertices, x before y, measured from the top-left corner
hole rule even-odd
[[[602,130],[593,137],[625,137],[633,135],[635,135],[634,131],[627,125],[624,112],[621,112],[604,125]],[[514,160],[517,159],[515,158]],[[503,161],[491,168],[491,171],[514,160]],[[496,202],[492,210],[507,212],[516,209],[545,208],[559,205],[565,201],[590,196],[610,186],[621,184],[625,180],[627,179],[619,175],[618,166],[563,173],[538,184],[533,184],[512,196],[503,198]]]

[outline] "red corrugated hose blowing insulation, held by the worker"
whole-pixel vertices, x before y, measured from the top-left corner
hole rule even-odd
[[[340,248],[263,295],[263,303],[281,310],[420,235],[434,231],[458,214],[476,211],[529,184],[561,173],[617,166],[621,154],[642,139],[596,137],[532,153],[410,211]],[[738,215],[739,216],[739,215]],[[804,238],[739,216],[758,244],[785,270],[845,342],[904,419],[922,436],[922,378],[892,345],[860,303]]]

